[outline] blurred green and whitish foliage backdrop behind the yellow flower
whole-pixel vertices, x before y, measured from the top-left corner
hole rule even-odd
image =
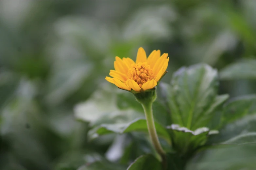
[[[0,169],[127,167],[122,143],[132,137],[89,140],[88,131],[138,117],[122,102],[133,96],[105,76],[115,56],[135,60],[139,47],[169,54],[164,82],[181,66],[207,63],[221,73],[220,94],[256,92],[256,72],[243,77],[248,65],[232,65],[254,58],[255,16],[254,0],[0,0]]]

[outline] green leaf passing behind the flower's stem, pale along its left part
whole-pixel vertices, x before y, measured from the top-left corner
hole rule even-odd
[[[159,137],[165,139],[169,144],[171,143],[171,139],[169,133],[166,131],[162,125],[155,122],[156,131]],[[131,121],[128,124],[102,124],[93,130],[90,131],[90,134],[93,138],[98,137],[99,135],[107,135],[111,133],[123,134],[129,132],[145,132],[148,133],[147,130],[147,122],[145,119],[136,119]]]

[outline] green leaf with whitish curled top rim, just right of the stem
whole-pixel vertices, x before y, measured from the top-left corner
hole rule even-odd
[[[217,134],[218,131],[210,131],[207,127],[201,127],[191,131],[186,127],[180,127],[178,124],[167,126],[172,132],[174,148],[182,154],[194,150],[206,143],[207,136]]]

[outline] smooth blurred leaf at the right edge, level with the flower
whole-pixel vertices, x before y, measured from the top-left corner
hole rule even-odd
[[[233,80],[241,78],[256,78],[256,60],[247,59],[230,64],[220,71],[222,80]]]

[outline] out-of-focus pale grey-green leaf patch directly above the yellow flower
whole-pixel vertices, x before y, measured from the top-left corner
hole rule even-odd
[[[143,6],[135,9],[131,17],[128,18],[124,25],[123,36],[126,40],[133,40],[133,42],[143,42],[145,38],[147,42],[153,39],[165,39],[172,35],[172,30],[166,23],[175,19],[175,10],[170,6],[157,4],[154,7]]]

